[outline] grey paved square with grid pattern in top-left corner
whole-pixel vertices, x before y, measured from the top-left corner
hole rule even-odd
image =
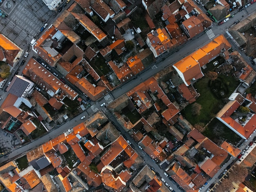
[[[39,35],[45,22],[56,14],[42,0],[3,0],[0,9],[7,13],[7,17],[0,17],[1,33],[24,50]]]

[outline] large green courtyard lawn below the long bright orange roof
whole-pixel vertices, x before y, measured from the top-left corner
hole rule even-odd
[[[222,83],[228,85],[229,97],[229,95],[234,92],[239,82],[236,81],[232,76],[220,75],[219,78],[221,79]],[[194,116],[191,114],[193,103],[182,110],[182,115],[192,125],[195,125],[196,123],[204,123],[204,125],[206,125],[222,108],[221,106],[224,105],[222,99],[218,99],[212,94],[210,88],[208,87],[208,83],[209,78],[204,77],[194,84],[194,87],[197,89],[198,93],[200,93],[199,98],[195,101],[195,103],[199,103],[202,106],[200,115]]]

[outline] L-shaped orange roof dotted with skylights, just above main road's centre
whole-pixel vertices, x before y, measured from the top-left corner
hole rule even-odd
[[[120,68],[112,60],[110,60],[108,64],[115,72],[117,78],[121,81],[121,83],[124,83],[126,80],[130,80],[130,78],[134,76],[132,70],[128,67],[126,63],[124,63],[124,65]]]

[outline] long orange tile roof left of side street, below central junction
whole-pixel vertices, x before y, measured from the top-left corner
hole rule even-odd
[[[124,149],[128,146],[123,136],[119,136],[116,141],[111,144],[110,150],[108,150],[102,157],[101,162],[103,165],[109,165]]]

